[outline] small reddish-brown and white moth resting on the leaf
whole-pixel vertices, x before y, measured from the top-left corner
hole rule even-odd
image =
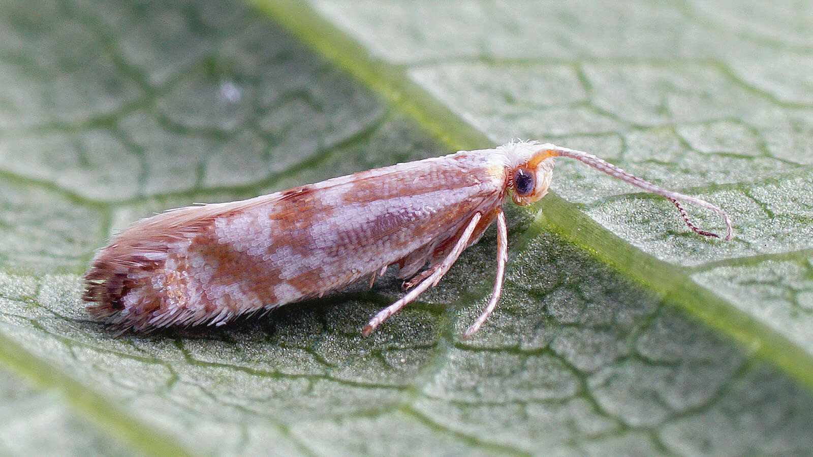
[[[120,332],[220,325],[321,297],[365,276],[372,285],[376,274],[398,265],[409,291],[370,320],[362,330],[367,334],[437,285],[496,220],[496,281],[488,305],[463,333],[468,337],[500,297],[508,257],[506,194],[517,205],[544,197],[557,156],[663,195],[701,235],[720,237],[696,227],[679,200],[714,211],[724,220],[724,239],[731,238],[728,215],[705,200],[662,189],[586,152],[512,141],[138,220],[98,250],[83,298],[93,317]]]

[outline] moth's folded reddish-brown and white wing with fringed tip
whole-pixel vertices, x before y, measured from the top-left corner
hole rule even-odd
[[[91,313],[121,329],[220,324],[324,294],[453,237],[502,201],[465,157],[404,163],[140,220],[85,275]],[[485,229],[485,228],[484,228]]]

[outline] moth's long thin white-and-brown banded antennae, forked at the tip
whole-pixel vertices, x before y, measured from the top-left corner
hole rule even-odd
[[[724,240],[731,239],[731,234],[733,233],[733,230],[731,228],[731,220],[728,219],[728,215],[725,214],[725,212],[721,210],[719,207],[716,207],[715,205],[706,202],[706,200],[703,200],[702,198],[692,197],[691,195],[686,194],[680,194],[680,192],[675,192],[673,190],[663,189],[663,187],[654,185],[650,181],[642,180],[638,176],[632,175],[628,172],[624,172],[624,170],[616,167],[612,163],[609,163],[604,159],[599,159],[595,155],[589,154],[584,151],[554,146],[550,148],[548,152],[550,152],[550,155],[559,155],[563,157],[571,157],[573,159],[580,160],[581,162],[587,163],[590,167],[598,168],[599,170],[605,172],[610,176],[615,176],[616,178],[619,178],[622,181],[627,181],[629,184],[637,185],[641,189],[652,192],[653,194],[663,195],[663,197],[668,198],[669,201],[675,204],[675,206],[677,207],[677,211],[680,211],[680,215],[683,216],[683,220],[685,221],[686,225],[688,225],[689,228],[693,230],[693,232],[705,235],[706,237],[720,238],[720,235],[718,235],[717,233],[707,232],[706,230],[702,230],[701,228],[698,228],[696,225],[694,225],[692,221],[689,220],[689,215],[686,214],[686,210],[683,209],[683,205],[681,205],[678,200],[694,203],[695,205],[698,205],[698,207],[704,207],[708,210],[714,211],[715,213],[720,215],[720,217],[722,217],[725,222],[725,236],[722,238]]]

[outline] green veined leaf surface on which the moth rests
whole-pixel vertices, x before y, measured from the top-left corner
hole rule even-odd
[[[0,452],[810,454],[811,11],[258,4],[0,11]],[[469,340],[492,232],[370,337],[394,272],[218,329],[114,337],[80,302],[155,211],[511,137],[719,203],[736,237],[563,159],[509,209]]]

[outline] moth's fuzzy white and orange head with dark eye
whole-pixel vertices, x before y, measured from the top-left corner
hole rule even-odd
[[[511,200],[517,205],[537,202],[548,193],[554,175],[554,155],[550,149],[554,147],[537,141],[512,141],[500,146],[508,163]]]

